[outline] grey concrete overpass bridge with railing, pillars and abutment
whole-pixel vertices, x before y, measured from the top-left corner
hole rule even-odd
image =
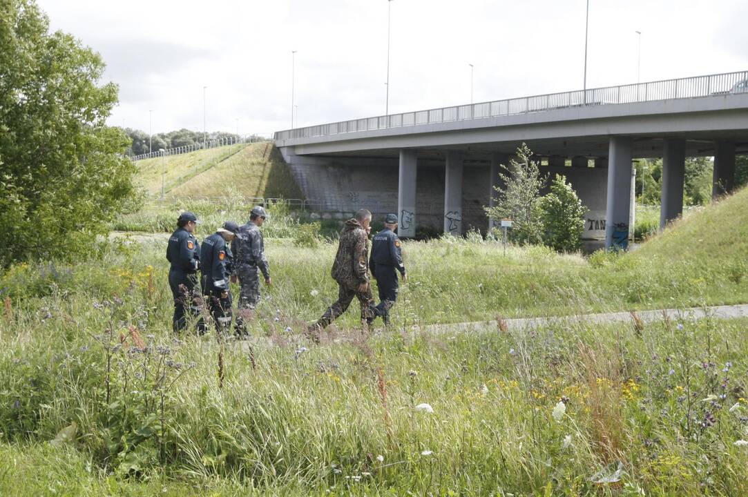
[[[586,238],[628,232],[636,158],[663,158],[660,226],[683,207],[684,160],[714,156],[714,196],[748,153],[748,71],[527,96],[275,133],[304,189],[329,210],[397,212],[400,234],[488,227],[500,164],[521,143],[589,208]],[[334,208],[333,208],[334,210]]]

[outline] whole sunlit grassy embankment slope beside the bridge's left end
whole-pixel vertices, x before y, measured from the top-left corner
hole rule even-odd
[[[136,182],[149,197],[221,197],[231,191],[244,197],[303,198],[288,165],[270,142],[221,146],[135,163]]]

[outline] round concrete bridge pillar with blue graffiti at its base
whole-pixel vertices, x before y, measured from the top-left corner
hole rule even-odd
[[[631,221],[631,138],[610,138],[605,248],[628,247]]]

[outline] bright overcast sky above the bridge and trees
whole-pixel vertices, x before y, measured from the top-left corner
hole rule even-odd
[[[38,0],[101,53],[109,123],[269,134],[384,114],[387,0]],[[581,89],[586,0],[393,0],[390,113]],[[748,70],[746,0],[589,0],[587,87]],[[238,120],[238,121],[237,121]]]

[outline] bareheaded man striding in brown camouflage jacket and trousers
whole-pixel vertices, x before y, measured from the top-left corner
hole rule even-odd
[[[356,212],[346,221],[340,232],[335,262],[331,276],[338,285],[337,300],[325,311],[322,318],[307,329],[307,335],[319,340],[319,332],[338,316],[346,312],[353,297],[361,303],[361,324],[371,324],[375,317],[374,297],[369,284],[369,223],[372,213],[367,209]]]

